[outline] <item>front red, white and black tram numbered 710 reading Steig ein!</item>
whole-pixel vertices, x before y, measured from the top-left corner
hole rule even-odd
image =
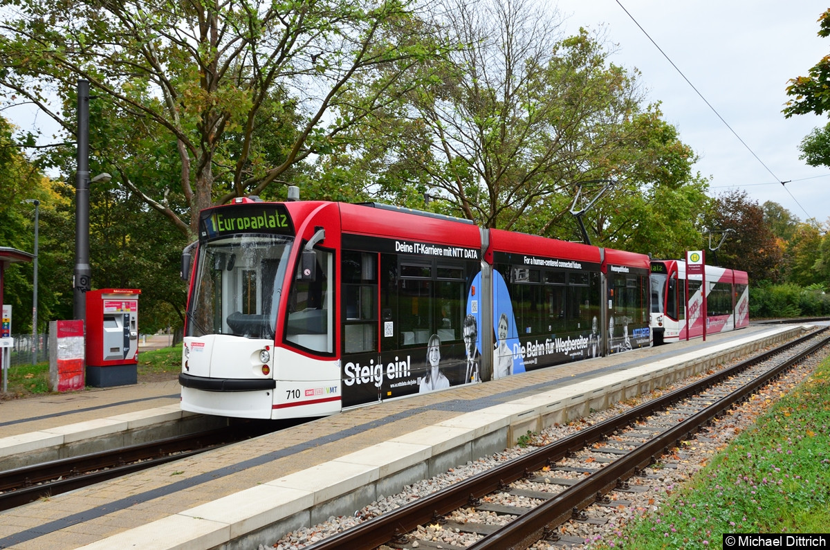
[[[382,204],[235,199],[188,264],[198,413],[330,415],[651,345],[646,255]]]

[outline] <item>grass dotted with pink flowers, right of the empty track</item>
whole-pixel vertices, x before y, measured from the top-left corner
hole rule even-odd
[[[830,359],[657,512],[593,548],[722,548],[723,533],[826,533]]]

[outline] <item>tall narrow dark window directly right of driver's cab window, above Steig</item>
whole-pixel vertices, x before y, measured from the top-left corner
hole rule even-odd
[[[378,349],[378,254],[344,250],[344,353]]]

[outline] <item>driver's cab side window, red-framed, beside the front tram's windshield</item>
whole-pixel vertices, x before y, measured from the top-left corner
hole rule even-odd
[[[334,351],[334,254],[317,249],[314,281],[295,278],[286,317],[286,340],[310,351]],[[300,277],[298,262],[296,277]]]

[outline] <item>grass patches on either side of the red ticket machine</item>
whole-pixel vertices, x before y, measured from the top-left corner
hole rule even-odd
[[[141,381],[173,379],[182,368],[182,345],[139,353]],[[7,399],[20,399],[49,392],[49,363],[17,365],[8,370]]]

